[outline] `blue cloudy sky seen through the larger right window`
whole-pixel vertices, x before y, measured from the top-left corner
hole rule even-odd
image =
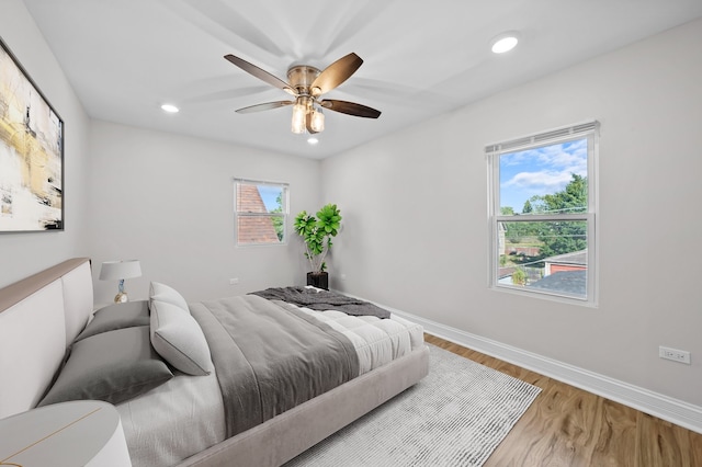
[[[500,156],[500,207],[521,213],[534,195],[562,191],[573,173],[588,174],[588,141],[577,139]]]

